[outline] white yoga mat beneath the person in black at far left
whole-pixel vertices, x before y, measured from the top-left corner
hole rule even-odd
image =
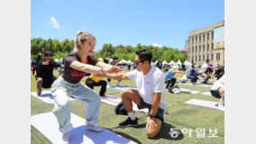
[[[45,103],[55,103],[54,99],[52,98],[52,95],[50,93],[50,91],[41,91],[41,95],[38,96],[36,94],[36,92],[31,92],[31,95],[33,97],[36,97],[38,99],[40,99],[41,101],[45,102]],[[76,99],[69,97],[69,101],[74,101]]]

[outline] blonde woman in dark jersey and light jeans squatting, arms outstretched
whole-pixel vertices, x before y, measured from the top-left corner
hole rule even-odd
[[[70,122],[71,108],[69,106],[69,94],[86,104],[87,130],[102,131],[96,128],[101,98],[94,90],[80,81],[87,74],[117,73],[122,68],[99,62],[92,56],[95,49],[96,38],[85,31],[79,31],[74,40],[74,52],[65,58],[64,73],[51,85],[51,94],[55,100],[54,115],[59,122],[59,130],[62,132],[62,142],[69,143],[69,130],[73,129]]]

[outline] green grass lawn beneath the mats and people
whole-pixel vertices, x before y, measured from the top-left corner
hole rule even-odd
[[[59,76],[59,72],[54,71],[55,76]],[[177,75],[177,77],[181,77]],[[82,83],[85,83],[87,77],[82,79]],[[112,80],[111,84],[115,85],[117,81]],[[121,85],[127,85],[130,87],[135,87],[134,81],[122,81]],[[209,92],[210,87],[200,87],[193,85],[179,85],[181,88],[187,88],[191,90]],[[96,92],[99,92],[100,87],[95,87]],[[42,89],[50,90],[50,89]],[[31,91],[36,91],[36,80],[34,76],[31,76]],[[120,97],[121,90],[107,88],[106,94],[110,94],[116,97]],[[99,121],[98,125],[112,130],[115,133],[123,136],[127,139],[132,139],[138,143],[180,143],[180,144],[222,144],[224,143],[224,112],[201,107],[197,105],[186,104],[185,102],[195,98],[212,102],[219,102],[213,96],[203,95],[203,94],[170,94],[166,92],[166,100],[168,103],[167,109],[168,114],[164,114],[164,123],[160,133],[154,139],[148,139],[145,134],[145,121],[146,113],[144,112],[135,112],[135,116],[139,117],[139,126],[136,128],[118,128],[117,123],[123,121],[127,116],[115,115],[114,114],[114,105],[107,103],[101,103],[100,112],[99,112]],[[85,119],[85,109],[86,106],[82,101],[75,100],[70,102],[72,112],[78,116]],[[41,100],[31,96],[31,115],[40,114],[43,112],[51,112],[53,109],[53,104],[44,103]],[[170,129],[177,128],[180,134],[178,138],[170,137]],[[196,129],[205,129],[206,135],[205,138],[197,138]],[[182,133],[182,130],[193,130],[191,137],[188,136],[188,133]],[[208,138],[209,129],[217,129],[216,136],[217,138]],[[50,140],[45,138],[39,130],[36,130],[31,126],[31,141],[32,143],[50,143]]]

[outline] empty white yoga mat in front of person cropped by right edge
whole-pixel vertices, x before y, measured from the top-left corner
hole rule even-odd
[[[197,99],[191,99],[187,102],[187,104],[194,104],[194,105],[199,105],[199,106],[204,106],[204,107],[209,107],[217,110],[221,110],[218,108],[218,103],[215,102],[210,102],[210,101],[205,101],[205,100],[197,100]],[[224,111],[224,110],[221,110]]]

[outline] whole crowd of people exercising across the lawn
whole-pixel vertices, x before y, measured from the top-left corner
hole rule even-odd
[[[166,89],[171,89],[177,83],[177,78],[175,78],[177,73],[186,75],[192,84],[197,83],[197,76],[202,76],[201,83],[206,84],[210,78],[211,70],[209,69],[212,69],[218,80],[212,87],[211,94],[216,98],[221,98],[224,103],[224,67],[211,67],[208,59],[202,67],[198,68],[197,65],[192,65],[187,72],[184,63],[180,67],[174,67],[162,66],[158,61],[155,67],[151,65],[153,57],[151,51],[140,49],[135,53],[133,65],[127,66],[129,71],[120,73],[126,64],[119,63],[118,57],[112,56],[108,61],[103,58],[94,58],[92,52],[95,49],[96,38],[91,33],[79,31],[74,44],[74,50],[66,58],[63,58],[62,64],[55,62],[52,59],[52,53],[45,49],[41,49],[41,53],[32,59],[32,67],[34,67],[32,74],[34,75],[34,71],[36,71],[37,94],[41,95],[41,88],[50,88],[55,100],[52,112],[59,122],[62,142],[69,143],[69,130],[73,129],[70,122],[69,95],[86,104],[86,129],[102,131],[95,125],[98,121],[101,96],[105,96],[106,87],[110,85],[111,79],[118,80],[117,85],[120,85],[122,80],[135,81],[136,90],[125,89],[121,92],[128,118],[118,125],[120,127],[138,125],[138,118],[133,112],[133,103],[136,103],[139,109],[149,109],[145,121],[146,135],[149,138],[154,138],[161,129],[164,111],[167,107]],[[53,76],[53,69],[56,67],[64,68],[58,78]],[[130,71],[131,67],[132,71]],[[87,74],[90,76],[87,77],[84,85],[81,83],[81,79]],[[106,77],[107,81],[103,80],[103,77]],[[93,90],[94,86],[101,86],[99,94]]]

